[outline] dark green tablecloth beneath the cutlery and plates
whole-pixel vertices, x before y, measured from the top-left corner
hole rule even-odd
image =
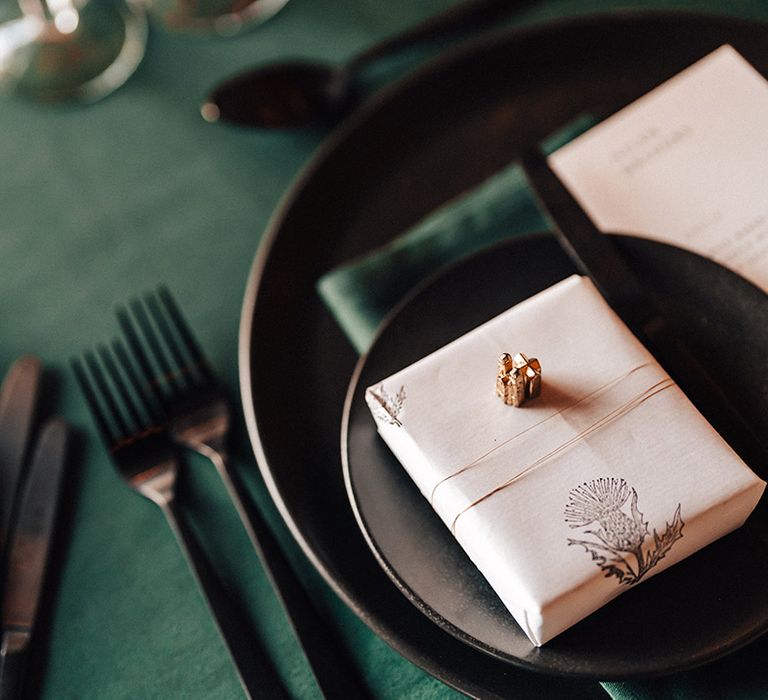
[[[158,509],[126,489],[97,441],[67,369],[70,356],[109,338],[114,305],[167,283],[233,392],[245,281],[261,232],[323,134],[211,126],[207,90],[235,71],[282,56],[342,59],[451,4],[449,0],[291,0],[237,39],[172,36],[153,27],[146,59],[117,93],[90,107],[0,102],[0,369],[38,354],[58,376],[58,409],[81,439],[72,463],[67,527],[57,543],[55,595],[35,654],[45,698],[235,698],[240,690]],[[625,3],[626,4],[626,3]],[[761,0],[635,2],[768,19]],[[616,7],[543,0],[518,21]],[[215,563],[246,599],[251,621],[298,698],[317,697],[310,672],[213,470],[193,464],[189,511]],[[328,608],[372,694],[451,697],[334,598],[290,540],[250,460],[254,497]],[[719,686],[675,677],[611,686],[641,697],[723,697],[743,656],[723,662]],[[751,663],[749,664],[751,666]],[[513,692],[511,690],[511,692]],[[595,684],[595,695],[604,691]]]

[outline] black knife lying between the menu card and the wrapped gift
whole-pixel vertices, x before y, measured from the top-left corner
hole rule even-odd
[[[595,226],[539,151],[524,154],[522,163],[541,209],[549,215],[552,232],[577,270],[592,279],[622,321],[741,457],[755,469],[768,469],[768,449],[762,440],[675,332],[610,236]]]

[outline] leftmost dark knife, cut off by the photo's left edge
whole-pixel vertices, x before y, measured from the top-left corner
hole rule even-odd
[[[0,388],[0,551],[32,435],[41,376],[40,360],[26,355],[14,362]]]

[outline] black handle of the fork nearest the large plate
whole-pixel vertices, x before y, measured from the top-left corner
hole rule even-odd
[[[320,691],[326,698],[369,697],[332,630],[304,590],[272,531],[250,499],[239,475],[231,468],[227,453],[219,446],[208,447],[207,455],[216,466],[251,545],[283,604]]]

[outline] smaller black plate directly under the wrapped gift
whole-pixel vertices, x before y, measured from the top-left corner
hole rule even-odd
[[[728,357],[734,338],[743,339],[739,369],[723,388],[755,430],[768,434],[768,296],[692,253],[626,237],[617,242],[698,357]],[[597,678],[621,676],[627,659],[635,675],[696,666],[768,628],[768,551],[759,518],[536,649],[378,437],[365,402],[366,387],[574,272],[555,239],[541,235],[472,257],[399,306],[358,363],[347,394],[342,458],[350,499],[397,587],[480,650],[536,670]]]

